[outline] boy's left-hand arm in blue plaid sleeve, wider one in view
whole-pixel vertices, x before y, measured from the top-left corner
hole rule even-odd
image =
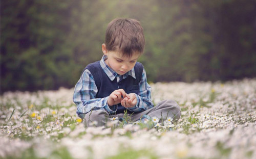
[[[76,113],[80,118],[84,118],[86,113],[92,110],[105,110],[108,113],[115,113],[108,105],[108,97],[96,98],[98,92],[93,75],[86,69],[82,73],[74,90],[73,101],[77,105]],[[114,107],[112,107],[114,109]]]

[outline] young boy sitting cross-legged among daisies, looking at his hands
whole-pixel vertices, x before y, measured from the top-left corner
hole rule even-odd
[[[102,59],[89,64],[75,86],[76,113],[85,118],[86,125],[97,121],[101,126],[113,117],[122,119],[124,111],[132,121],[180,118],[181,110],[174,100],[153,105],[145,69],[137,62],[144,45],[143,28],[137,20],[117,18],[108,24]]]

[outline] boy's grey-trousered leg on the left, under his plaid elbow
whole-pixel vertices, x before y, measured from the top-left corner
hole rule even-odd
[[[117,116],[117,115],[116,115]],[[97,121],[96,126],[104,126],[107,122],[111,121],[111,118],[116,117],[115,115],[110,116],[108,112],[102,110],[91,111],[84,117],[86,126],[91,126],[90,123]]]

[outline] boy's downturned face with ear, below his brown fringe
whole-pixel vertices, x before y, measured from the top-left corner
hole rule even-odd
[[[134,53],[130,58],[123,57],[119,51],[108,51],[105,48],[105,44],[102,44],[103,54],[108,56],[105,60],[106,65],[112,68],[117,74],[123,75],[130,71],[136,64],[140,54]]]

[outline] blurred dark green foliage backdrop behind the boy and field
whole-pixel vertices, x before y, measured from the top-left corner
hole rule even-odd
[[[150,82],[256,76],[256,1],[1,2],[1,92],[74,87],[102,57],[108,23],[138,19]]]

